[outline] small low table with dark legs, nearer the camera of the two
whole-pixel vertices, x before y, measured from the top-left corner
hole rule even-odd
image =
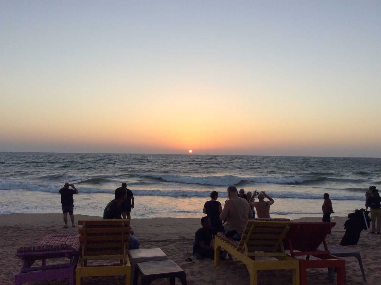
[[[175,284],[175,278],[181,280],[182,285],[187,285],[185,271],[173,260],[139,262],[135,267],[134,285],[138,284],[139,275],[142,285],[149,285],[152,280],[169,278],[171,285]]]

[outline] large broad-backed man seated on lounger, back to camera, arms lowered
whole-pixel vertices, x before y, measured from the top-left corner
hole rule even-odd
[[[229,200],[226,200],[224,209],[221,215],[219,215],[219,218],[221,221],[226,219],[226,223],[224,224],[225,230],[236,230],[242,234],[243,229],[246,227],[247,220],[253,217],[253,212],[251,211],[249,203],[238,196],[235,186],[227,187],[227,196]]]

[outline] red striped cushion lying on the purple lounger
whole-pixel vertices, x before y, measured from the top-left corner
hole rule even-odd
[[[44,237],[37,246],[24,246],[17,249],[17,253],[28,252],[42,252],[42,251],[60,251],[72,250],[78,253],[80,250],[78,233],[71,233],[70,235],[57,234],[47,235]]]

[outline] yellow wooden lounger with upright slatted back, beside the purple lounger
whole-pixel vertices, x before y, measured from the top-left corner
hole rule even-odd
[[[128,259],[128,241],[130,239],[130,221],[80,220],[83,225],[81,234],[81,261],[77,266],[77,285],[81,277],[125,275],[126,285],[130,285],[131,264]],[[90,265],[93,261],[118,260],[118,263]],[[88,262],[89,261],[89,262]]]

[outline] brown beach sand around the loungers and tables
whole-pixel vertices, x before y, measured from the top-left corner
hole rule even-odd
[[[75,215],[79,219],[101,219],[101,217]],[[339,246],[344,235],[343,224],[346,217],[332,217],[336,222],[332,234],[328,235],[328,245]],[[303,218],[295,221],[321,221],[321,217]],[[70,221],[69,221],[70,224]],[[77,223],[76,223],[77,224]],[[64,229],[62,214],[6,214],[0,215],[0,240],[2,254],[0,258],[0,284],[14,284],[14,274],[22,266],[22,261],[14,253],[19,246],[36,245],[42,237],[54,233],[77,233],[78,227]],[[167,256],[176,262],[186,272],[189,285],[221,284],[232,285],[249,284],[249,274],[243,264],[223,264],[215,266],[211,259],[186,262],[192,256],[194,233],[201,227],[199,219],[185,218],[156,218],[133,219],[131,228],[135,237],[141,243],[140,248],[161,248]],[[362,257],[368,284],[381,282],[381,235],[371,235],[371,244],[367,232],[362,231],[359,243],[345,248],[359,251]],[[357,259],[345,258],[347,284],[365,284],[362,279]],[[178,284],[179,280],[176,280]],[[37,282],[33,284],[68,284],[68,279]],[[86,277],[82,284],[124,284],[124,278],[118,277]],[[308,284],[329,284],[328,269],[309,269],[307,271]],[[140,284],[140,280],[139,283]],[[156,280],[151,284],[166,284],[165,279]],[[291,284],[291,271],[259,271],[258,284]],[[335,275],[336,284],[336,275]]]

